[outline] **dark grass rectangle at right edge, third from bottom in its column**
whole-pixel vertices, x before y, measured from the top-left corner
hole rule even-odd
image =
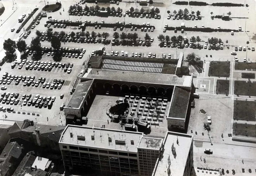
[[[256,84],[246,81],[235,81],[234,94],[238,96],[256,96]]]

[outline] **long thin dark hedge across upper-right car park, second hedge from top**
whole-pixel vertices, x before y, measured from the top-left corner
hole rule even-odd
[[[213,29],[210,27],[205,27],[205,28],[195,28],[195,27],[166,27],[166,30],[168,31],[174,31],[174,29],[177,29],[177,31],[181,31],[184,29],[184,31],[196,31],[196,32],[238,32],[238,30],[235,29]]]

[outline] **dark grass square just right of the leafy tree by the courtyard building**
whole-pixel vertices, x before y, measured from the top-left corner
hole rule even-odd
[[[230,62],[211,61],[208,76],[229,77]]]

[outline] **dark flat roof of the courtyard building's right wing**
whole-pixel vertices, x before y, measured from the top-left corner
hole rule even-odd
[[[186,118],[189,103],[190,90],[175,87],[171,101],[169,118]]]

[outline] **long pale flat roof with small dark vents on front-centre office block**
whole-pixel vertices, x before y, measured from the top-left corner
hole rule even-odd
[[[70,133],[73,134],[73,137]],[[137,145],[142,137],[143,133],[141,132],[67,125],[62,132],[59,144],[137,152]]]

